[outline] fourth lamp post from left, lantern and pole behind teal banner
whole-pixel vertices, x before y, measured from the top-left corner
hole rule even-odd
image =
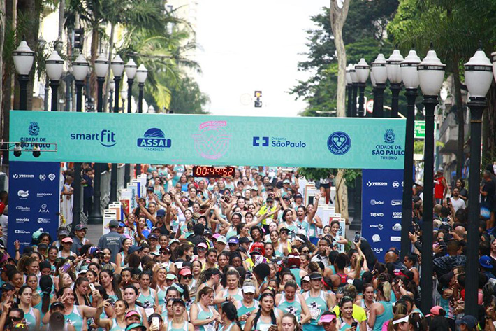
[[[103,83],[105,83],[105,76],[108,71],[108,59],[105,58],[103,53],[95,60],[95,73],[96,82],[98,83],[98,104],[97,111],[103,111]],[[103,216],[101,215],[100,198],[101,198],[101,164],[94,164],[95,177],[93,181],[93,210],[88,218],[89,224],[103,223]]]

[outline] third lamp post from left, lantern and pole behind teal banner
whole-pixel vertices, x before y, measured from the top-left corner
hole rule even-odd
[[[82,87],[85,86],[85,78],[89,73],[89,64],[85,57],[80,54],[73,62],[73,75],[75,79],[75,111],[82,111]],[[73,204],[73,227],[81,223],[81,162],[74,163],[74,204]]]

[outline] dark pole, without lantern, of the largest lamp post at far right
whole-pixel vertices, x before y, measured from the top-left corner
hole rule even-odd
[[[477,316],[477,293],[479,284],[479,179],[481,174],[482,114],[486,98],[470,97],[470,165],[469,165],[469,223],[467,234],[467,266],[465,275],[465,314]],[[463,125],[463,123],[459,123]]]

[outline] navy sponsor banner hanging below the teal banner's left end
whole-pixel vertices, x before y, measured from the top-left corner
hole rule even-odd
[[[31,127],[31,130],[34,130]],[[59,162],[10,161],[8,253],[31,246],[33,232],[43,229],[52,238],[59,227]]]

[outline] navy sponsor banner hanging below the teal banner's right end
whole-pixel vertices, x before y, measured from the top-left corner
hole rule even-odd
[[[362,236],[379,261],[391,247],[400,249],[403,170],[363,169]]]

